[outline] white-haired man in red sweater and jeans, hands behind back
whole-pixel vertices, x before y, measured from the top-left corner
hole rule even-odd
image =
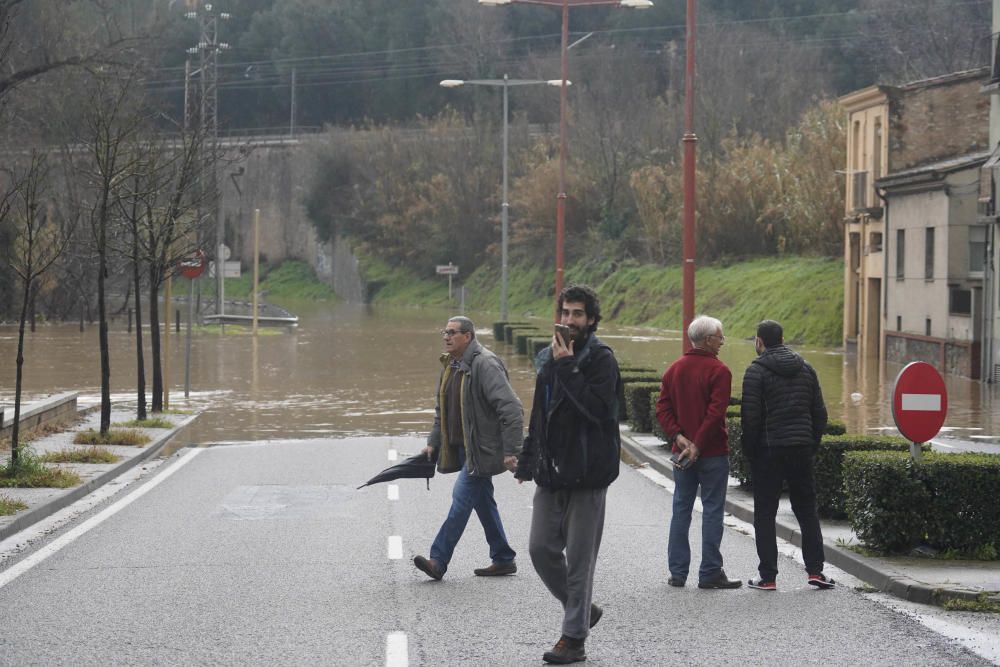
[[[722,516],[729,482],[729,434],[726,408],[733,376],[719,361],[726,341],[722,322],[702,315],[688,327],[694,346],[663,374],[656,418],[675,454],[674,506],[667,544],[671,586],[683,586],[691,564],[688,532],[701,487],[701,566],[698,588],[739,588],[722,569]]]

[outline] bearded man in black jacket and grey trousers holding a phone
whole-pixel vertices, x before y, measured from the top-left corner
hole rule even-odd
[[[552,345],[535,359],[535,399],[516,476],[534,480],[528,552],[563,608],[562,636],[542,659],[587,659],[590,629],[604,613],[591,601],[608,485],[618,477],[621,377],[597,338],[601,303],[586,285],[559,295]],[[568,336],[564,338],[564,335]]]

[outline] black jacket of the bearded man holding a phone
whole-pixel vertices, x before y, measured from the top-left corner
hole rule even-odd
[[[538,377],[517,478],[549,489],[601,489],[618,477],[621,376],[611,348],[591,334],[572,357],[535,360]]]

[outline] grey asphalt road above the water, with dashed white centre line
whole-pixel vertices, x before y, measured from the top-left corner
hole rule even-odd
[[[5,564],[0,664],[541,664],[561,611],[527,554],[533,486],[495,480],[517,575],[473,576],[489,560],[473,517],[444,580],[431,581],[411,560],[427,554],[454,476],[429,491],[422,480],[355,489],[421,446],[345,438],[183,450]],[[652,473],[622,465],[588,664],[989,664],[852,585],[812,589],[785,556],[777,593],[670,588],[669,507]],[[741,530],[727,529],[723,554],[745,580],[756,555]],[[696,569],[697,529],[691,538]]]

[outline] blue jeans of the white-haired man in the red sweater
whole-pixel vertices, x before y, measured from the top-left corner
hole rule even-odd
[[[729,484],[729,457],[710,456],[698,459],[687,470],[674,468],[674,507],[670,520],[670,540],[667,543],[667,565],[670,574],[685,580],[691,564],[688,532],[694,499],[701,487],[701,567],[698,580],[715,577],[722,569],[722,515],[726,507]]]

